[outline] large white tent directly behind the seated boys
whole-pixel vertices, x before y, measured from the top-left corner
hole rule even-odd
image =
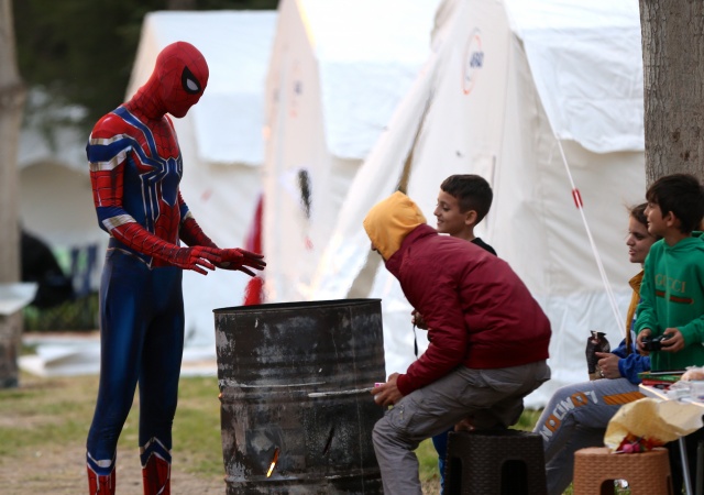
[[[623,338],[617,314],[625,316],[627,280],[639,268],[624,244],[626,205],[645,194],[638,1],[446,0],[432,43],[350,187],[310,298],[381,297],[387,372],[405,371],[414,359],[410,307],[370,252],[362,219],[405,184],[435,224],[440,183],[480,174],[495,198],[479,233],[552,322],[553,380],[527,400],[540,407],[558,386],[587,378],[590,330],[606,331],[612,345]]]

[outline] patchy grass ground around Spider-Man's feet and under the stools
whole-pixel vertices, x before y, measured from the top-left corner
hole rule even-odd
[[[92,417],[97,376],[37,378],[22,375],[20,387],[0,389],[0,480],[4,495],[85,493],[85,439]],[[118,446],[120,494],[140,495],[136,452],[139,403]],[[518,427],[530,429],[537,411]],[[220,403],[215,377],[184,377],[174,421],[173,493],[224,493]],[[417,451],[424,493],[439,493],[438,458],[430,441]]]

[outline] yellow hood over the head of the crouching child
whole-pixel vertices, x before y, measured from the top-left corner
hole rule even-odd
[[[364,230],[384,260],[398,251],[416,227],[426,223],[420,208],[405,194],[396,191],[377,202],[364,219]]]

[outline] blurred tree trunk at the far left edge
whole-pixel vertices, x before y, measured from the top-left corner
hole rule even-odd
[[[24,89],[18,74],[12,1],[0,0],[0,283],[20,279],[18,226],[18,142]],[[20,311],[0,315],[0,387],[18,385],[18,351],[22,334]]]

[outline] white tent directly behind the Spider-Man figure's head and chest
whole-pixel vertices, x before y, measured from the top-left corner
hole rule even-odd
[[[276,30],[274,11],[153,12],[142,28],[130,98],[166,45],[186,41],[206,57],[206,92],[173,119],[184,157],[180,189],[198,223],[221,248],[244,246],[262,191],[264,81]],[[212,310],[242,304],[249,276],[184,273],[187,346],[215,356]]]

